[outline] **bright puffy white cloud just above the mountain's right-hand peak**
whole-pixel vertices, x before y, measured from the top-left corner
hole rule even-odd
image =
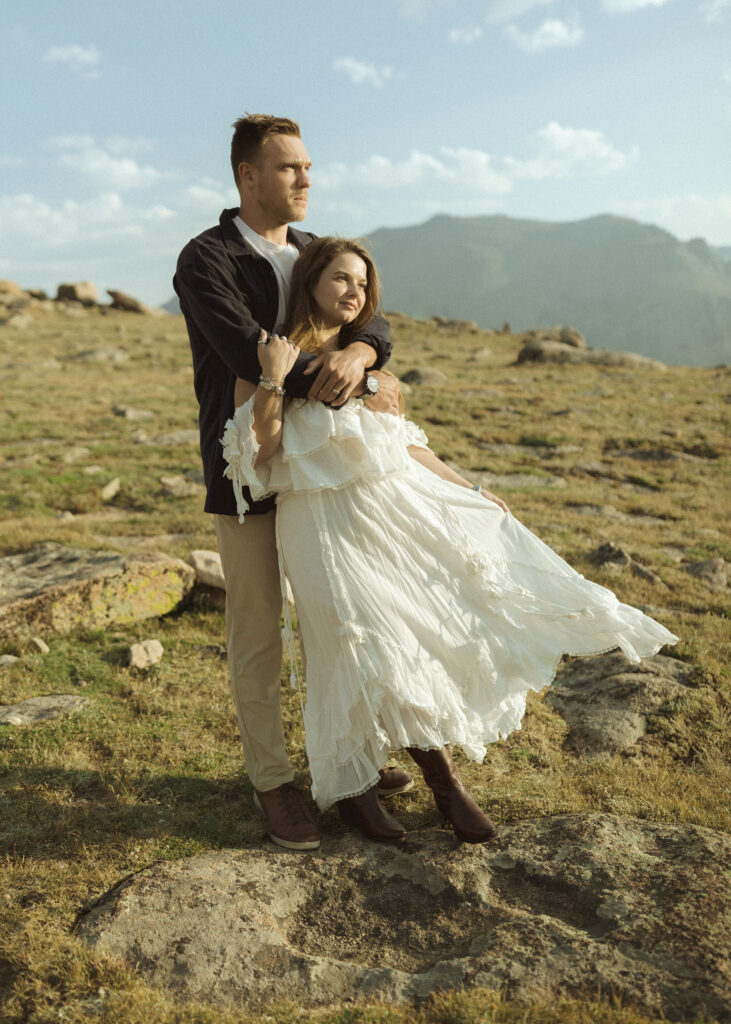
[[[600,131],[569,128],[556,121],[538,131],[532,142],[538,151],[535,157],[506,159],[506,167],[513,177],[541,181],[610,174],[622,170],[638,157],[636,150],[629,155],[617,150]]]

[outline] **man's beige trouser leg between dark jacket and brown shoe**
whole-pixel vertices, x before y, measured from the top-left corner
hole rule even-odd
[[[294,777],[280,706],[282,592],[274,512],[214,516],[226,584],[228,673],[249,778],[273,790]]]

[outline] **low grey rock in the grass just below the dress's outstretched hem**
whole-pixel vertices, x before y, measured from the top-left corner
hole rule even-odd
[[[650,715],[688,692],[693,666],[655,654],[632,665],[624,654],[571,658],[546,691],[569,728],[567,744],[589,761],[606,760],[637,742]]]

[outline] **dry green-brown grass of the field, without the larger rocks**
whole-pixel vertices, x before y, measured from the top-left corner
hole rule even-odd
[[[398,314],[392,323],[394,372],[431,366],[447,375],[442,387],[415,386],[407,396],[437,454],[487,481],[511,474],[502,494],[514,513],[579,571],[654,609],[681,637],[673,655],[697,666],[692,696],[657,717],[632,756],[592,764],[572,757],[562,719],[539,695],[522,731],[493,744],[483,767],[462,763],[467,781],[499,822],[602,810],[729,830],[727,607],[723,592],[686,570],[731,559],[729,371],[516,366],[520,340],[510,335]],[[215,548],[202,496],[175,498],[161,482],[201,479],[196,443],[155,440],[197,426],[181,317],[48,314],[0,332],[0,554],[41,540],[183,558]],[[107,361],[85,355],[100,349],[111,350]],[[125,418],[115,407],[154,418]],[[119,494],[104,501],[115,477]],[[662,582],[593,565],[602,541]],[[162,641],[165,657],[134,674],[124,652],[148,637]],[[47,639],[46,655],[0,643],[0,652],[22,655],[0,670],[0,702],[78,692],[89,703],[58,722],[0,726],[0,1021],[648,1024],[631,1007],[551,993],[532,1007],[473,992],[417,1010],[281,1007],[250,1016],[176,1006],[132,969],[90,952],[71,934],[76,916],[122,877],[264,834],[242,761],[220,612],[191,607]],[[297,697],[286,686],[283,708],[306,783]],[[443,826],[423,788],[396,800],[407,827]],[[333,813],[321,826],[343,829]]]

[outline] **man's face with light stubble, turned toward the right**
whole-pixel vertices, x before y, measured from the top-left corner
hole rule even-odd
[[[272,135],[255,164],[242,165],[246,202],[258,208],[268,227],[304,220],[307,213],[311,161],[296,135]]]

